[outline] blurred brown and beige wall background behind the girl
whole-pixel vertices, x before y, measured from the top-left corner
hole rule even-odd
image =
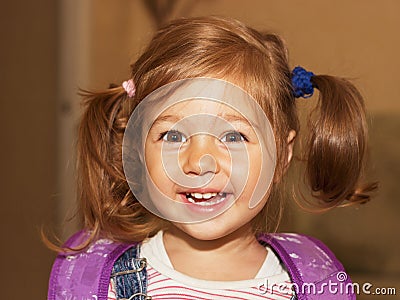
[[[280,33],[287,41],[293,66],[301,64],[315,73],[354,80],[369,111],[368,177],[380,181],[380,192],[367,205],[326,214],[305,213],[288,199],[282,230],[322,239],[353,280],[376,287],[393,286],[399,295],[400,2],[173,2],[167,19],[198,15],[237,18],[257,29]],[[78,87],[103,88],[126,79],[130,62],[155,29],[145,1],[3,3],[2,298],[23,295],[45,299],[54,254],[42,245],[39,229],[46,224],[66,236],[77,227],[76,222],[66,219],[75,212],[73,149],[80,113]],[[300,103],[300,109],[303,105],[306,108],[309,104]],[[357,299],[375,298],[383,296],[360,295]]]

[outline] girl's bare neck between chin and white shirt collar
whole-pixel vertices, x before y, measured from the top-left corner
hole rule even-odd
[[[164,233],[164,245],[175,270],[205,280],[252,279],[267,255],[249,226],[213,240],[172,226]]]

